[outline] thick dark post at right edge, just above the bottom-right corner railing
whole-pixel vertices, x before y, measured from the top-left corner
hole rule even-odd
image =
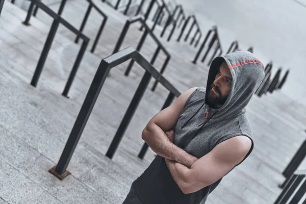
[[[301,144],[293,158],[291,159],[290,163],[287,165],[285,170],[283,171],[283,175],[287,178],[292,175],[296,169],[299,167],[301,162],[306,157],[306,140]]]

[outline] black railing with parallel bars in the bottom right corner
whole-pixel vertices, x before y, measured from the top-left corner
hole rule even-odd
[[[274,204],[306,203],[306,198],[304,197],[304,194],[306,193],[305,174],[305,170],[293,174],[282,193],[275,200]]]

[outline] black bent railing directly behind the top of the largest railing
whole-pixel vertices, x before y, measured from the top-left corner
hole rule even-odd
[[[140,51],[140,49],[141,49],[141,47],[142,47],[142,45],[143,45],[143,43],[144,43],[144,41],[145,41],[147,35],[149,34],[149,35],[152,37],[152,39],[154,39],[154,41],[155,41],[155,42],[157,43],[157,45],[158,45],[158,47],[157,47],[157,49],[155,50],[155,53],[154,53],[154,55],[153,55],[153,57],[152,57],[150,63],[151,63],[151,64],[154,64],[154,63],[155,63],[156,58],[157,58],[157,56],[158,56],[160,50],[163,50],[164,54],[167,56],[166,59],[165,59],[165,62],[164,62],[164,64],[163,64],[163,66],[162,66],[162,68],[161,68],[161,70],[160,70],[160,73],[163,74],[164,71],[165,71],[165,69],[166,69],[166,67],[167,67],[167,65],[168,65],[168,63],[169,63],[169,61],[170,61],[170,59],[171,59],[171,55],[170,55],[169,52],[166,50],[166,48],[163,46],[163,44],[158,40],[158,38],[155,36],[155,34],[149,29],[148,25],[145,23],[145,21],[143,20],[143,18],[142,18],[141,16],[136,16],[136,17],[133,17],[133,18],[131,18],[131,19],[129,19],[129,20],[126,20],[125,25],[124,25],[124,27],[123,27],[123,29],[122,29],[122,31],[121,31],[121,34],[120,34],[120,36],[119,36],[119,38],[118,38],[118,40],[117,40],[117,43],[116,43],[116,45],[115,45],[113,54],[114,54],[114,53],[117,53],[117,52],[119,51],[119,49],[120,49],[120,47],[121,47],[121,45],[122,45],[122,43],[123,43],[123,40],[124,40],[124,38],[125,38],[125,36],[126,36],[127,31],[129,31],[130,25],[131,25],[132,23],[135,23],[135,22],[140,22],[141,25],[145,28],[145,31],[144,31],[144,33],[143,33],[143,35],[142,35],[142,37],[141,37],[141,39],[140,39],[140,41],[139,41],[139,43],[138,43],[138,45],[137,45],[137,48],[136,48],[137,51],[138,51],[138,52]],[[127,66],[127,68],[126,68],[126,70],[125,70],[125,73],[124,73],[126,76],[128,76],[128,75],[130,74],[130,71],[131,71],[131,69],[132,69],[132,67],[133,67],[133,64],[134,64],[134,61],[132,60],[132,61],[130,62],[130,64],[129,64],[129,66]],[[156,89],[157,84],[158,84],[158,80],[155,81],[155,83],[154,83],[154,85],[153,85],[153,87],[152,87],[152,91],[154,91],[154,90]]]

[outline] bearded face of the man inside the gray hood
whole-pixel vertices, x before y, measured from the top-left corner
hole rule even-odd
[[[208,100],[216,108],[220,108],[231,91],[232,74],[223,62],[216,74],[214,82],[209,87]]]

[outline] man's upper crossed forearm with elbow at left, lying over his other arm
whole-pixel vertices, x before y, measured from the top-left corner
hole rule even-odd
[[[197,160],[180,147],[173,144],[164,131],[156,124],[148,125],[142,132],[142,139],[156,154],[169,160],[174,160],[190,168]]]

